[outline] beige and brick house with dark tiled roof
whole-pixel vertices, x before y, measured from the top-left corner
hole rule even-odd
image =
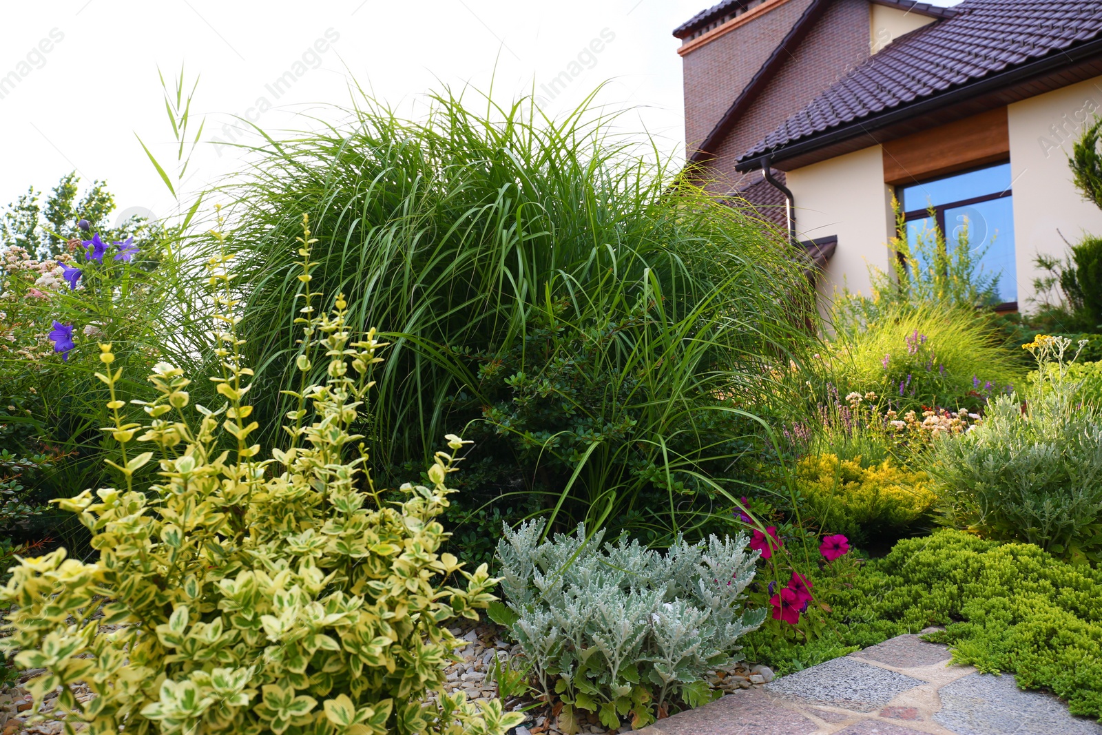
[[[887,270],[893,196],[968,226],[1003,310],[1028,310],[1039,253],[1102,212],[1068,154],[1102,111],[1102,0],[725,0],[682,41],[687,156],[709,186],[790,226],[819,291]]]

